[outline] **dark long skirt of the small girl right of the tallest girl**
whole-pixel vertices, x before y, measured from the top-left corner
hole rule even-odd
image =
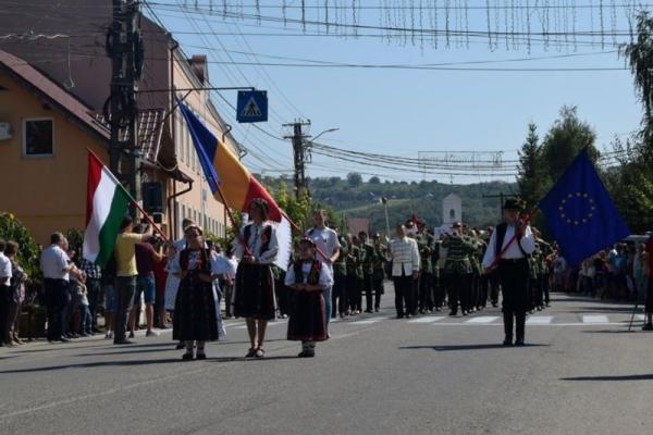
[[[287,338],[293,341],[324,341],[328,338],[324,298],[321,291],[291,294]]]

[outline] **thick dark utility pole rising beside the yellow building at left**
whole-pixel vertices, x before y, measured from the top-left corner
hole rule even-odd
[[[107,37],[111,58],[111,88],[104,104],[104,119],[111,127],[109,169],[140,200],[140,150],[136,91],[143,71],[140,5],[136,0],[113,0],[113,22]],[[132,209],[132,215],[136,210]]]

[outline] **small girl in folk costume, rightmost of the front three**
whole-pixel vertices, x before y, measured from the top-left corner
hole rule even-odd
[[[333,286],[329,268],[316,259],[316,244],[309,238],[299,241],[299,260],[286,272],[285,285],[291,296],[288,340],[301,341],[299,358],[316,356],[316,341],[328,339],[323,291]]]

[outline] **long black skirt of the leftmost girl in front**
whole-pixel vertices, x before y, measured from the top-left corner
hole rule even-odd
[[[172,338],[182,341],[214,341],[219,338],[215,294],[211,283],[186,276],[174,304]]]

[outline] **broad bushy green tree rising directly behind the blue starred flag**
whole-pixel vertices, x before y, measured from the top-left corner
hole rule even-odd
[[[542,141],[543,169],[551,176],[552,182],[557,182],[571,161],[581,149],[588,148],[588,153],[593,161],[599,158],[594,147],[596,134],[587,122],[578,119],[575,105],[564,105],[560,117],[555,121],[544,140]]]

